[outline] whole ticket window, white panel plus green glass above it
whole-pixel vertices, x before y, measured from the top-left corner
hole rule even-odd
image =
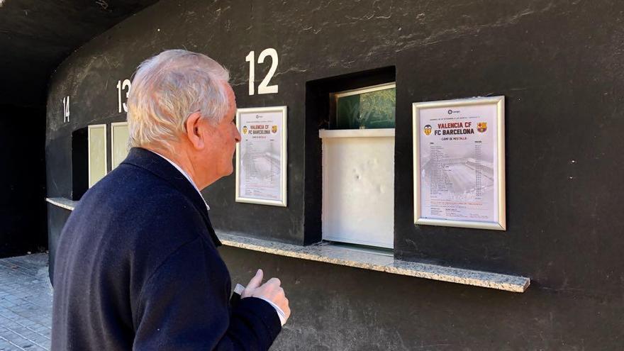
[[[323,240],[394,248],[395,84],[331,96],[323,150]]]

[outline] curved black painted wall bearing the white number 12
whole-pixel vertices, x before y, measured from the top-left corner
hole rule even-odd
[[[277,348],[617,350],[623,13],[624,3],[607,0],[163,0],[91,40],[52,77],[48,196],[72,196],[72,132],[125,119],[117,81],[157,52],[187,48],[230,69],[239,107],[289,108],[288,208],[235,203],[234,177],[226,177],[204,191],[216,228],[312,243],[320,227],[319,96],[331,82],[357,85],[345,79],[391,69],[396,257],[533,283],[512,294],[224,248],[234,282],[257,266],[282,278],[294,314]],[[279,55],[271,82],[279,94],[249,96],[245,56],[264,48]],[[268,68],[256,65],[256,84]],[[67,95],[72,121],[62,123]],[[411,104],[488,95],[506,96],[508,230],[413,225]]]

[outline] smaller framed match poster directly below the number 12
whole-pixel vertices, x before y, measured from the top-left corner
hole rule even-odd
[[[286,106],[238,108],[236,201],[286,207]]]

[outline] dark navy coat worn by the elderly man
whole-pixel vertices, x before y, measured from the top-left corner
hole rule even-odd
[[[52,350],[268,350],[279,317],[261,299],[230,306],[218,245],[194,186],[131,149],[62,230]]]

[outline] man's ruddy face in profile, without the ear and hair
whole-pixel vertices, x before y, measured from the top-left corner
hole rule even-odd
[[[212,165],[206,165],[206,167],[214,167],[219,177],[225,177],[232,174],[234,167],[232,160],[234,152],[236,150],[236,143],[240,142],[240,133],[236,128],[236,99],[234,91],[227,85],[227,94],[230,109],[228,113],[221,119],[221,122],[216,126],[211,125],[208,121],[208,129],[211,130],[209,140],[209,147],[206,152],[209,152],[212,159]]]

